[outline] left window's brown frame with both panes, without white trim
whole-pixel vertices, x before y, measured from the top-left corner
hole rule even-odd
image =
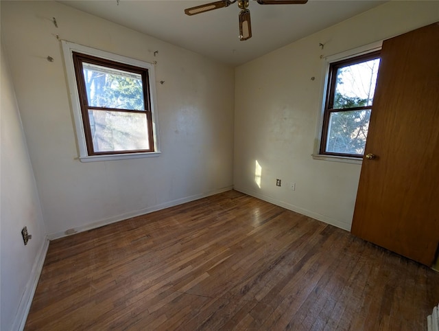
[[[88,155],[154,152],[147,69],[73,52]]]

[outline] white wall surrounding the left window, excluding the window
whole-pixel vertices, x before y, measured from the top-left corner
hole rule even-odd
[[[1,27],[51,238],[232,187],[233,68],[54,1],[1,1]],[[160,157],[78,161],[56,34],[157,61]]]

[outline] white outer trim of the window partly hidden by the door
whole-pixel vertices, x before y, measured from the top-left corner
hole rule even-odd
[[[348,51],[333,54],[323,58],[324,61],[322,65],[322,77],[324,77],[324,79],[322,80],[322,84],[320,87],[320,95],[322,96],[320,100],[320,104],[322,105],[322,107],[318,113],[318,121],[316,127],[316,144],[314,144],[313,154],[311,154],[311,157],[313,159],[322,160],[322,161],[353,163],[360,165],[361,163],[363,163],[363,159],[358,159],[356,157],[341,157],[341,156],[320,154],[320,142],[322,141],[322,129],[323,129],[324,102],[327,99],[329,67],[333,62],[338,62],[341,60],[345,60],[346,58],[353,58],[354,56],[360,56],[363,54],[379,51],[382,45],[383,45],[383,41],[376,41],[375,43],[370,43],[368,45],[364,45],[354,49],[349,49]]]

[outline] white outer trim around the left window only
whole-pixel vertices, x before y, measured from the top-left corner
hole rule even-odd
[[[78,45],[69,41],[61,41],[62,51],[64,53],[64,63],[67,71],[67,81],[69,83],[70,102],[73,111],[73,118],[75,120],[76,139],[78,141],[79,159],[81,162],[93,162],[93,161],[110,161],[110,160],[122,160],[122,159],[139,159],[142,157],[158,157],[161,154],[160,144],[158,142],[158,117],[157,117],[157,105],[156,105],[156,78],[154,73],[154,65],[152,63],[144,62],[141,60],[135,60],[126,56],[112,54],[110,52],[101,51],[99,49],[87,47],[84,45]],[[104,58],[106,60],[112,60],[116,62],[125,63],[127,65],[134,65],[136,67],[145,68],[148,71],[149,86],[150,86],[150,99],[151,99],[151,117],[152,117],[152,133],[154,139],[154,152],[143,153],[127,153],[127,154],[114,154],[114,155],[88,155],[84,124],[82,122],[82,113],[80,107],[80,98],[78,93],[78,84],[76,84],[75,67],[73,65],[73,52],[96,56]]]

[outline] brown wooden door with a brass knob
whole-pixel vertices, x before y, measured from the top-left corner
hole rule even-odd
[[[439,244],[439,23],[383,42],[352,233],[431,266]]]

